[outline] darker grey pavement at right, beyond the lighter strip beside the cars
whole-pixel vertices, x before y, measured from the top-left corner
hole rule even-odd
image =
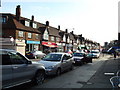
[[[115,73],[120,70],[120,58],[113,59],[109,57],[103,65],[98,69],[98,71],[88,80],[82,88],[112,88],[109,79],[113,75],[105,75],[104,73]]]

